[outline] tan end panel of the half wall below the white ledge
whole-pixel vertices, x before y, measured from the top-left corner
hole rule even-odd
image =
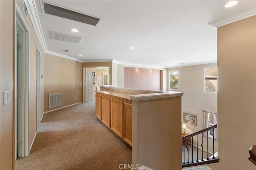
[[[132,164],[154,170],[182,168],[181,98],[132,100]]]

